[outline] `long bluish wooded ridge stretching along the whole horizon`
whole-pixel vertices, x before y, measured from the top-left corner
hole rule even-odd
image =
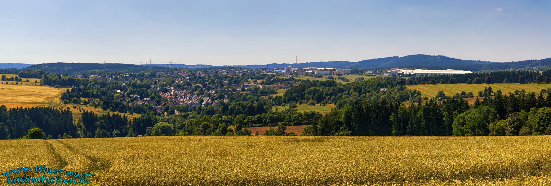
[[[0,63],[0,68],[9,68],[8,64]],[[29,65],[23,69],[41,69],[47,72],[59,73],[60,63],[44,63],[44,64],[22,64]],[[271,63],[271,64],[252,64],[252,65],[223,65],[215,66],[209,64],[152,64],[152,65],[136,65],[122,63],[61,63],[62,73],[80,73],[88,70],[149,70],[163,68],[209,68],[209,67],[242,67],[242,68],[285,68],[285,67],[334,67],[334,68],[429,68],[429,69],[457,69],[457,70],[504,70],[504,69],[522,69],[528,67],[551,68],[551,58],[546,59],[530,59],[517,62],[489,62],[463,60],[450,58],[446,56],[430,56],[426,54],[414,54],[409,56],[392,56],[384,58],[366,59],[358,62],[350,61],[329,61],[329,62],[307,62],[307,63]],[[12,67],[13,68],[13,67]],[[16,67],[17,68],[17,67]]]

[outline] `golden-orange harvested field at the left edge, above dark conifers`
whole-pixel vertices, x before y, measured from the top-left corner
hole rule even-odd
[[[0,105],[13,107],[55,106],[66,89],[51,86],[0,84]]]

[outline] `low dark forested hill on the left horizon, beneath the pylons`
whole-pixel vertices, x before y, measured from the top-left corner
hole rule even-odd
[[[163,69],[166,67],[155,67],[150,65],[122,64],[122,63],[43,63],[35,64],[24,68],[23,70],[39,69],[50,73],[78,74],[90,70],[113,72],[117,70],[127,70],[130,72],[140,72],[148,69]]]

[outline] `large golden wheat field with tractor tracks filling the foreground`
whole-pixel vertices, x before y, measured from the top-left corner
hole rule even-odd
[[[95,174],[89,179],[98,185],[550,185],[549,141],[551,136],[0,140],[0,169],[46,165]],[[13,185],[6,178],[0,184]]]

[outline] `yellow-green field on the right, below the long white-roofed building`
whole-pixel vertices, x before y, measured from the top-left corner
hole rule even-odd
[[[446,95],[455,95],[456,93],[473,92],[476,96],[478,91],[483,91],[484,87],[491,86],[495,92],[501,90],[503,94],[515,92],[515,90],[526,90],[526,92],[536,92],[539,94],[541,89],[551,88],[551,84],[518,84],[518,83],[496,83],[496,84],[436,84],[436,85],[409,85],[409,89],[417,89],[421,91],[422,96],[434,97],[440,90],[444,90]]]

